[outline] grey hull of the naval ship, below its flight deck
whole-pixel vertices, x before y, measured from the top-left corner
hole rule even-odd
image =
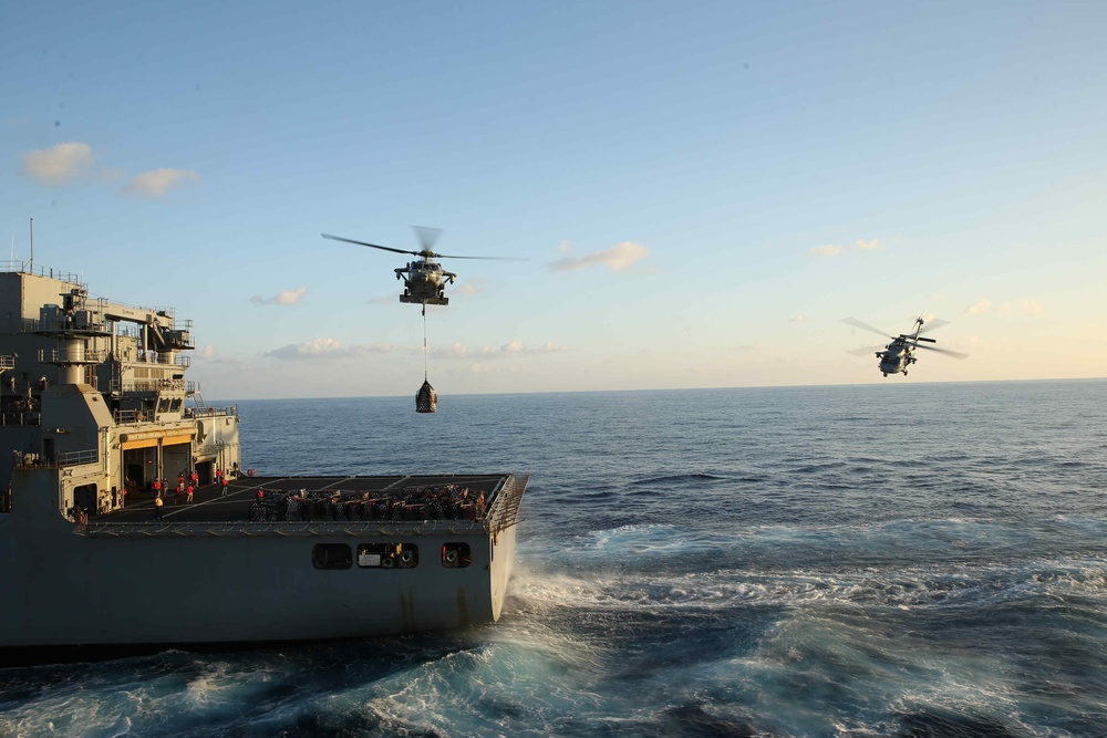
[[[15,489],[20,481],[17,474]],[[525,478],[503,478],[484,521],[250,520],[250,503],[236,496],[267,484],[272,497],[271,481],[246,479],[226,498],[211,489],[210,499],[168,506],[162,519],[152,502],[141,502],[126,516],[77,526],[56,512],[20,516],[20,498],[34,496],[14,496],[13,512],[0,522],[10,562],[0,588],[19,596],[0,610],[0,648],[19,648],[25,658],[29,647],[237,646],[499,619]],[[509,519],[500,507],[507,505]],[[401,549],[414,565],[381,565],[379,553],[362,553]]]

